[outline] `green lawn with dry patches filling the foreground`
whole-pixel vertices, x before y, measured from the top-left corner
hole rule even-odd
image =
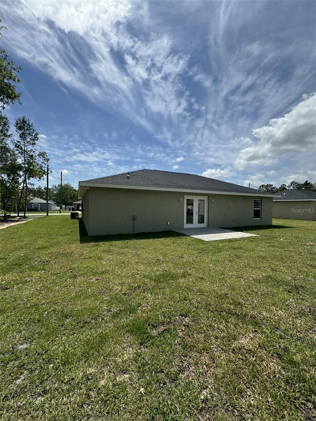
[[[245,231],[1,230],[0,420],[315,420],[316,223]]]

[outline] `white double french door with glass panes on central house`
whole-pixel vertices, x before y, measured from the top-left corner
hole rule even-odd
[[[207,227],[207,196],[184,197],[184,228]]]

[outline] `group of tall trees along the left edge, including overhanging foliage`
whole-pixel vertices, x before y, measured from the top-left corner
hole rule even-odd
[[[2,29],[5,28],[0,26],[0,39]],[[13,136],[4,114],[10,104],[21,104],[21,93],[16,87],[20,70],[0,47],[0,210],[4,218],[12,210],[17,210],[18,215],[23,210],[25,217],[32,181],[43,178],[49,163],[46,152],[36,149],[39,134],[30,119],[17,117]]]

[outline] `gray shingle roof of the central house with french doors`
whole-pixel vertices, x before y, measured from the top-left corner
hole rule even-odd
[[[80,183],[116,184],[142,187],[160,187],[173,189],[218,191],[229,193],[257,194],[258,196],[270,195],[271,193],[252,189],[214,178],[202,177],[201,175],[172,173],[158,170],[138,170],[127,173],[109,175],[107,177],[93,178],[80,181]]]

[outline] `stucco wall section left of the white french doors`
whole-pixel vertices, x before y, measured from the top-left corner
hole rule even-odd
[[[87,193],[83,196],[83,220],[88,235],[183,228],[184,205],[179,194],[97,187],[90,188]],[[135,221],[133,215],[136,215]]]

